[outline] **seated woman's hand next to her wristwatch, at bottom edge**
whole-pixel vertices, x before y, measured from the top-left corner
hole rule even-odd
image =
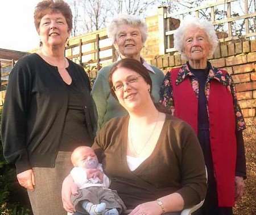
[[[130,215],[160,215],[162,214],[162,208],[156,201],[145,202],[138,205]]]

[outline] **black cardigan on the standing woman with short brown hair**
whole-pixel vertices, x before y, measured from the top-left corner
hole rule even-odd
[[[84,93],[86,127],[94,138],[96,115],[84,69],[69,60],[72,81]],[[31,167],[54,167],[68,109],[68,91],[57,67],[38,54],[25,56],[15,64],[2,112],[3,154],[15,163],[17,172]]]

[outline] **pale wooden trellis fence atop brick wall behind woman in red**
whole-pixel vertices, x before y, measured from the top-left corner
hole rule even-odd
[[[181,11],[179,13],[167,13],[167,8],[159,10],[159,35],[162,36],[162,50],[160,54],[173,52],[174,32],[188,14],[198,18],[207,18],[213,23],[218,33],[222,34],[220,42],[250,38],[256,36],[256,11],[254,0],[218,0],[214,3]],[[239,10],[238,10],[239,9]],[[238,12],[237,12],[238,11]],[[243,13],[243,14],[240,14]],[[241,32],[237,26],[243,27]]]

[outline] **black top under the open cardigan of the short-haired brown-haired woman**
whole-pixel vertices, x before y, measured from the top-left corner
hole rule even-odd
[[[84,94],[77,88],[74,80],[72,80],[71,85],[67,85],[67,90],[68,112],[65,118],[59,151],[73,151],[77,146],[91,146],[92,144],[85,123],[86,119],[82,102]]]

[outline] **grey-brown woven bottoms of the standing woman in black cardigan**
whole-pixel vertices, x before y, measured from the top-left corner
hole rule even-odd
[[[73,167],[71,153],[60,151],[54,168],[32,168],[35,189],[28,191],[28,196],[34,215],[67,215],[61,200],[61,185]]]

